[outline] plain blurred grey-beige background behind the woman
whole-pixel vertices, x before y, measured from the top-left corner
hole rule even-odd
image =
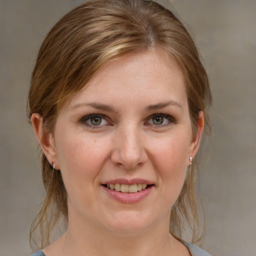
[[[0,0],[0,255],[28,255],[43,189],[26,122],[30,73],[46,32],[81,0]],[[256,1],[171,0],[209,74],[213,137],[201,187],[204,248],[256,255]]]

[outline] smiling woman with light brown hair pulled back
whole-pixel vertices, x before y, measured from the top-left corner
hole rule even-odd
[[[161,5],[91,0],[61,18],[28,95],[46,190],[33,255],[208,255],[181,235],[187,221],[200,236],[193,179],[210,102],[191,37]]]

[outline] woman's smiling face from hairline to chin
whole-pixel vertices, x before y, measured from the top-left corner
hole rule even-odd
[[[51,142],[69,224],[123,235],[166,225],[198,144],[180,69],[156,52],[108,63],[59,113]]]

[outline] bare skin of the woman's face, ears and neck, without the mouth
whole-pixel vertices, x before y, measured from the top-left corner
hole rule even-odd
[[[150,51],[111,61],[60,111],[53,133],[43,136],[38,113],[31,121],[68,196],[68,230],[43,250],[46,256],[190,255],[168,225],[202,125],[192,135],[174,60]],[[123,203],[102,187],[115,178],[143,178],[152,188],[138,202]]]

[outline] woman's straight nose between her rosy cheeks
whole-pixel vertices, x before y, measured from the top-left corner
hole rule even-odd
[[[138,127],[125,125],[114,133],[111,161],[125,169],[134,169],[147,161],[142,131]]]

